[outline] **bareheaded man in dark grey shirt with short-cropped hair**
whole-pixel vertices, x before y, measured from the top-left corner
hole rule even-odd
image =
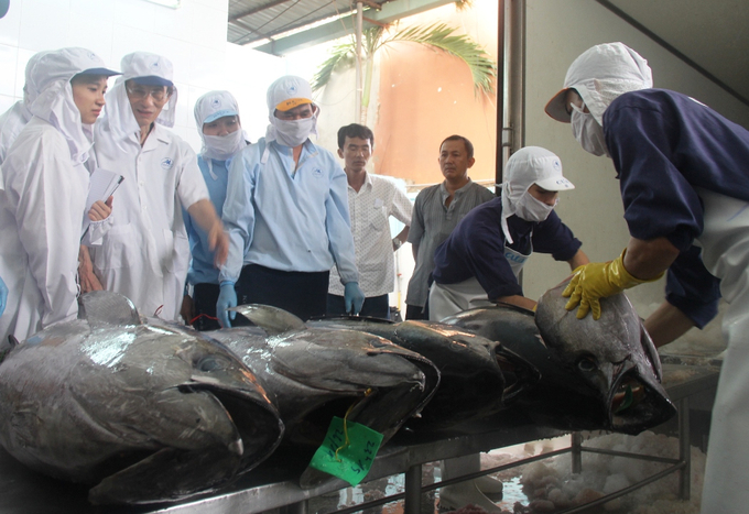
[[[474,145],[463,135],[451,135],[439,145],[439,169],[445,179],[422,189],[411,215],[409,242],[416,263],[405,296],[406,319],[428,319],[426,299],[434,251],[470,209],[489,201],[493,193],[468,176],[476,160]]]

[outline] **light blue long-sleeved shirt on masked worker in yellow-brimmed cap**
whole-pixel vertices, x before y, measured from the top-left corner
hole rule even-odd
[[[327,150],[304,143],[295,168],[292,149],[265,139],[246,147],[229,167],[224,225],[229,256],[219,280],[237,282],[242,266],[325,272],[335,263],[340,282],[358,282],[348,216],[348,183]]]

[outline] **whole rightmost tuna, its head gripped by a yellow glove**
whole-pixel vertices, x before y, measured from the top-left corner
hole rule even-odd
[[[658,352],[627,296],[601,299],[600,319],[580,320],[564,308],[568,282],[541,297],[535,317],[497,305],[444,321],[501,341],[539,369],[541,380],[518,401],[541,424],[639,434],[671,418]]]

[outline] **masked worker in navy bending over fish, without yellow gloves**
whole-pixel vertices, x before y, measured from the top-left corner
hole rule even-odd
[[[572,270],[587,264],[582,243],[554,212],[558,193],[574,187],[549,150],[525,146],[512,154],[501,197],[471,209],[437,247],[430,319],[495,302],[533,309],[518,282],[532,252],[550,253]]]

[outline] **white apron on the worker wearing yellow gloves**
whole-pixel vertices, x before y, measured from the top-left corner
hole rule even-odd
[[[728,349],[713,408],[702,512],[745,513],[749,505],[749,204],[696,188],[705,206],[697,238],[705,267],[720,278],[729,304],[723,318]]]

